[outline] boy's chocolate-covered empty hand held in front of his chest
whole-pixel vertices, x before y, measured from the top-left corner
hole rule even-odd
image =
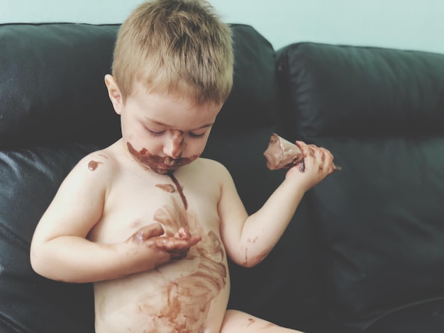
[[[149,253],[146,256],[151,256],[148,258],[148,261],[151,262],[147,263],[147,269],[152,269],[161,264],[184,258],[189,249],[200,240],[201,236],[191,235],[184,227],[179,228],[173,235],[171,232],[165,232],[160,223],[153,223],[140,228],[128,238],[127,242],[135,244],[137,247],[143,246],[143,249],[136,249],[137,255],[140,252],[143,253],[145,249],[148,250]]]

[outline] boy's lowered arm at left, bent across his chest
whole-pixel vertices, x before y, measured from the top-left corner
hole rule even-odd
[[[101,218],[108,180],[113,176],[109,160],[91,172],[90,159],[82,159],[70,172],[35,229],[30,261],[37,273],[75,283],[108,280],[179,259],[199,241],[187,230],[162,235],[164,230],[157,223],[143,227],[125,242],[89,241],[87,235]],[[94,156],[94,160],[103,158]]]

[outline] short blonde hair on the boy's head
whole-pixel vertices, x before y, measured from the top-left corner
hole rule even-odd
[[[118,32],[113,77],[123,102],[138,81],[198,104],[223,103],[233,86],[231,28],[204,0],[147,1]]]

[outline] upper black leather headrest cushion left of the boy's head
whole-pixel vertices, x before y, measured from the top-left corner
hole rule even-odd
[[[118,26],[0,27],[0,147],[118,138],[104,86]]]

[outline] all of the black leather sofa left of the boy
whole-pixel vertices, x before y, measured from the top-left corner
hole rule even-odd
[[[29,245],[70,169],[119,136],[103,83],[117,28],[0,26],[2,331],[94,331],[91,286],[38,276]]]

